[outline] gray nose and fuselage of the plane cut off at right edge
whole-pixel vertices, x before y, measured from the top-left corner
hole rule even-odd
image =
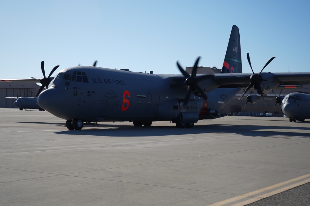
[[[310,94],[290,93],[282,101],[282,112],[289,117],[290,122],[300,121],[310,118]]]

